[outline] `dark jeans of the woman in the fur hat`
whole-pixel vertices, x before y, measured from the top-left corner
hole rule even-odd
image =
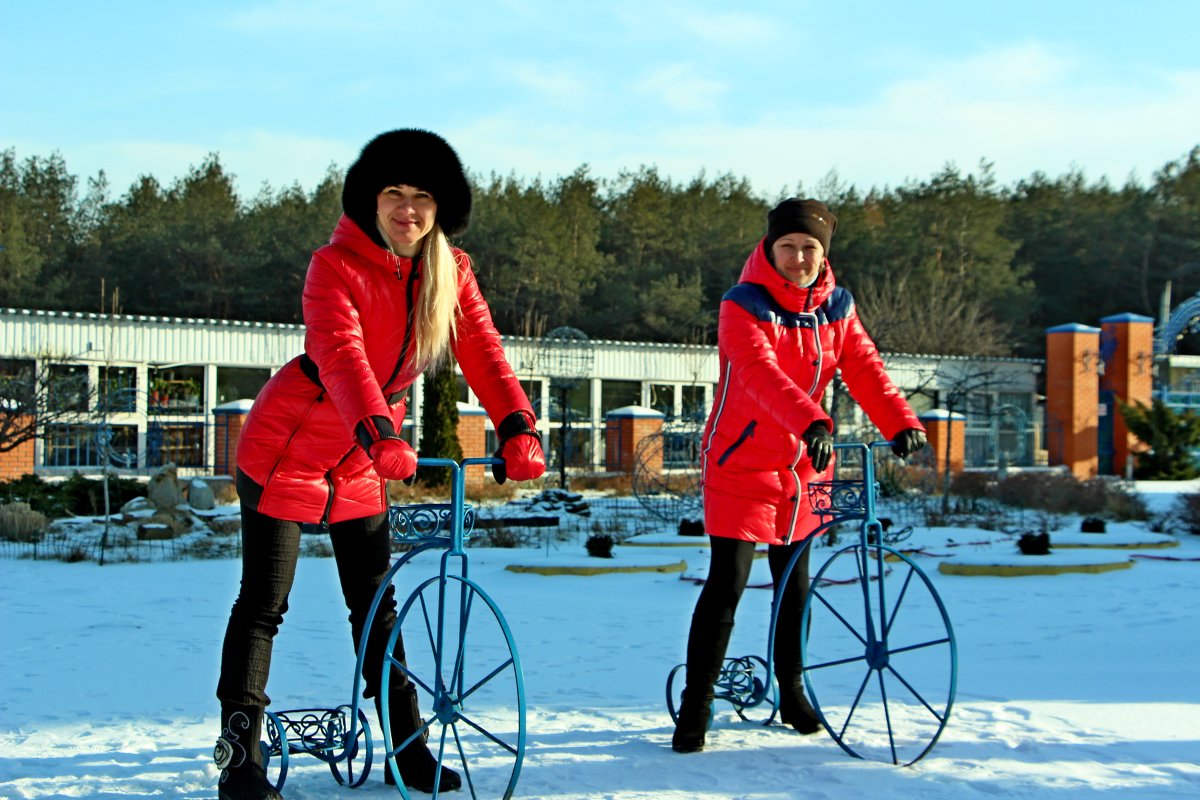
[[[241,507],[241,589],[229,613],[221,650],[217,699],[222,705],[265,709],[275,634],[288,610],[288,595],[300,555],[300,525]],[[334,523],[329,537],[337,563],[346,607],[350,610],[354,651],[366,625],[371,601],[391,566],[391,539],[384,513]],[[384,648],[396,622],[396,600],[388,587],[376,610],[364,660],[365,697],[379,691]],[[403,643],[395,655],[403,660]]]

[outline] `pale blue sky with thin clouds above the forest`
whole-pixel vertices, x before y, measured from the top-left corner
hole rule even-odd
[[[113,196],[209,152],[307,190],[409,126],[481,176],[1145,184],[1200,144],[1198,30],[1193,0],[0,0],[0,150]]]

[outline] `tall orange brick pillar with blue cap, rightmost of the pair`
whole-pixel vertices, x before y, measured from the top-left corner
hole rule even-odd
[[[1154,320],[1140,314],[1115,314],[1100,320],[1100,353],[1104,377],[1100,389],[1111,391],[1126,403],[1150,405],[1154,389],[1151,368],[1154,363]],[[1112,471],[1132,475],[1133,455],[1145,450],[1129,433],[1121,411],[1112,417]]]

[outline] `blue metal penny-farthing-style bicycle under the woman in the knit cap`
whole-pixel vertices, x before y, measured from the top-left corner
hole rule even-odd
[[[821,525],[797,548],[779,587],[787,584],[812,542],[835,537],[840,525],[858,528],[857,541],[836,549],[812,577],[799,621],[804,682],[821,723],[842,750],[856,758],[907,765],[929,753],[949,720],[958,645],[934,584],[912,559],[890,547],[876,516],[874,451],[890,444],[834,445],[839,471],[857,471],[858,477],[809,485],[808,500]],[[726,658],[714,693],[740,718],[762,724],[779,714],[770,664],[780,597],[776,588],[767,657]],[[667,676],[672,720],[678,717],[685,668],[679,664]]]

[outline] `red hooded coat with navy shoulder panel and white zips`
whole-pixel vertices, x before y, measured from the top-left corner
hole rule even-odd
[[[818,421],[833,429],[820,401],[834,371],[884,438],[924,429],[828,261],[800,288],[760,242],[721,299],[718,345],[721,375],[701,451],[704,528],[714,536],[775,545],[820,524],[805,497],[816,474],[800,434]]]

